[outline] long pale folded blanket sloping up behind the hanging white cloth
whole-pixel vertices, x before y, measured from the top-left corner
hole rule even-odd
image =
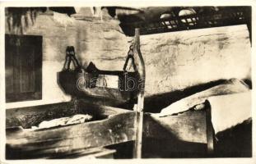
[[[244,93],[248,92],[249,87],[241,80],[231,79],[227,80],[223,84],[219,84],[210,89],[204,90],[199,93],[195,93],[187,98],[183,98],[175,103],[170,104],[170,106],[165,107],[159,113],[159,116],[168,116],[179,112],[184,112],[189,110],[189,108],[195,107],[198,104],[204,103],[204,101],[212,96],[225,95],[233,93]]]

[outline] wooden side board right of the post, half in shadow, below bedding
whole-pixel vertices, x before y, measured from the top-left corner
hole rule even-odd
[[[147,113],[143,134],[156,139],[179,139],[184,142],[207,144],[206,111],[187,111],[177,116],[159,117]]]

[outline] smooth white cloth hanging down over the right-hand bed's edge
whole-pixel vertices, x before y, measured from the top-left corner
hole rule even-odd
[[[215,133],[238,125],[252,116],[251,92],[235,93],[208,98],[212,108]]]

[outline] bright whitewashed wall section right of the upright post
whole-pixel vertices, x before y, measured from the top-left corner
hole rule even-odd
[[[250,78],[246,25],[141,37],[147,95],[230,78]]]

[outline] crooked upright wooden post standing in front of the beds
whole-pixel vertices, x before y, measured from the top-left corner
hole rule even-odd
[[[136,110],[136,139],[135,145],[133,149],[133,157],[134,158],[142,158],[142,128],[143,128],[143,107],[144,107],[144,89],[145,89],[145,64],[142,57],[142,52],[140,50],[140,30],[138,28],[135,29],[135,42],[134,42],[134,57],[137,58],[137,71],[140,76],[140,86],[139,93],[137,96],[137,107]]]

